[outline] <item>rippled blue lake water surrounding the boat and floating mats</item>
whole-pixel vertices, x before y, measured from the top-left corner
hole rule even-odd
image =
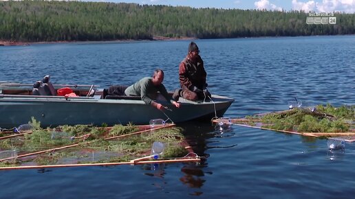
[[[304,105],[355,104],[355,36],[196,40],[211,93],[233,97],[225,116]],[[178,86],[189,41],[0,47],[0,81],[131,84],[165,72]],[[68,113],[69,114],[69,113]],[[6,117],[6,115],[1,115]],[[354,198],[355,143],[233,126],[182,124],[200,164],[125,165],[0,172],[1,198]]]

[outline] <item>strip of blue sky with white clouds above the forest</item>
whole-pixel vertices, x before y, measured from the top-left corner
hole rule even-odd
[[[95,0],[94,0],[95,1]],[[355,13],[355,0],[97,0],[149,5],[182,5],[193,8],[303,10],[305,12]]]

